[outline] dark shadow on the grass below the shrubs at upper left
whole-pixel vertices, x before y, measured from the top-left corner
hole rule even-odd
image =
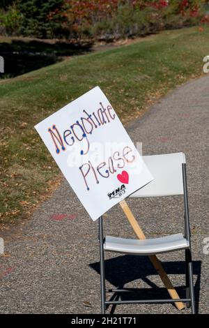
[[[62,57],[90,52],[93,43],[12,40],[0,43],[0,56],[4,59],[4,73],[0,78],[15,77],[61,61]]]

